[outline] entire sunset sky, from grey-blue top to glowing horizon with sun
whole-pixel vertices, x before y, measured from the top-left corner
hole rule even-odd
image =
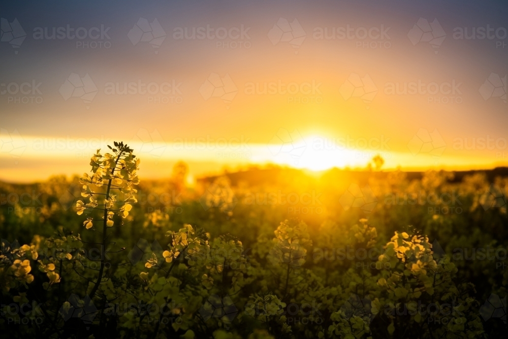
[[[508,3],[4,1],[0,180],[508,164]],[[54,32],[54,33],[53,33]]]

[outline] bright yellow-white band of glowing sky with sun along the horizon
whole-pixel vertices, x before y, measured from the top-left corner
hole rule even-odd
[[[0,150],[0,162],[3,165],[0,180],[30,182],[45,180],[54,174],[80,174],[83,163],[88,162],[98,148],[107,149],[107,144],[111,143],[110,140],[99,139],[69,139],[68,142],[53,139],[55,138],[11,136],[10,142],[4,143]],[[322,134],[282,139],[273,139],[270,143],[229,145],[143,143],[136,140],[128,144],[137,150],[136,155],[143,161],[140,176],[148,178],[168,177],[172,166],[180,160],[188,163],[194,177],[216,175],[225,168],[235,170],[269,164],[310,171],[324,171],[334,167],[362,170],[368,167],[376,155],[385,161],[383,170],[465,170],[505,165],[505,162],[496,163],[488,157],[472,157],[467,154],[452,155],[444,152],[442,156],[435,157],[428,153],[414,155],[409,151],[379,150],[375,147],[369,149],[363,144],[347,145],[338,142],[339,139],[327,138]],[[57,172],[55,167],[58,168]],[[34,171],[34,168],[38,170]]]

